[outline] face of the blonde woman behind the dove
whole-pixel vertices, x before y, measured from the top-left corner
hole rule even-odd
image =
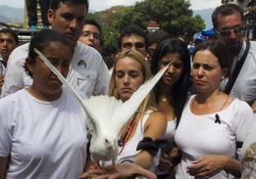
[[[141,65],[129,57],[120,59],[116,66],[115,80],[120,99],[127,101],[144,83]]]

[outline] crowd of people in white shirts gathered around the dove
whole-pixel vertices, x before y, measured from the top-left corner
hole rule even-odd
[[[51,29],[29,43],[0,30],[0,178],[256,177],[256,42],[244,40],[238,6],[217,7],[214,37],[196,33],[193,48],[134,24],[118,47],[104,47],[100,24],[86,19],[88,0],[48,6]],[[84,99],[126,103],[169,65],[122,128],[115,164],[91,161],[89,116],[34,49]]]

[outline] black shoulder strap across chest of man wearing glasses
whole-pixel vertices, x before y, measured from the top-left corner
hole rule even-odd
[[[247,41],[246,42],[246,49],[245,49],[245,51],[244,51],[240,61],[238,61],[236,66],[234,67],[234,69],[232,71],[232,74],[230,76],[230,79],[228,81],[228,84],[226,85],[226,89],[225,89],[225,93],[226,94],[230,94],[232,86],[233,86],[233,84],[234,84],[234,82],[235,82],[235,80],[236,80],[236,78],[237,78],[237,76],[238,76],[238,74],[240,72],[240,69],[243,66],[243,63],[245,62],[245,59],[246,59],[246,57],[248,55],[249,48],[250,48],[250,42]]]

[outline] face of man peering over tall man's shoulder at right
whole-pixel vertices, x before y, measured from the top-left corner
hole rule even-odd
[[[97,26],[93,24],[83,25],[82,33],[79,37],[79,41],[93,47],[98,52],[101,51],[100,45],[100,32]]]

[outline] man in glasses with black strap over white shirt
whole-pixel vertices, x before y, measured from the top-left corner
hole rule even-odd
[[[246,43],[243,39],[242,9],[235,4],[224,4],[217,7],[212,15],[212,22],[217,37],[227,44],[230,51],[231,75],[234,68],[240,65],[239,62],[245,54],[245,61],[241,65],[233,85],[230,85],[230,80],[227,84],[228,78],[226,78],[222,81],[221,87],[222,89],[226,88],[226,92],[230,88],[230,92],[227,92],[230,96],[247,102],[256,112],[256,42]],[[248,53],[246,53],[246,47],[248,47]]]

